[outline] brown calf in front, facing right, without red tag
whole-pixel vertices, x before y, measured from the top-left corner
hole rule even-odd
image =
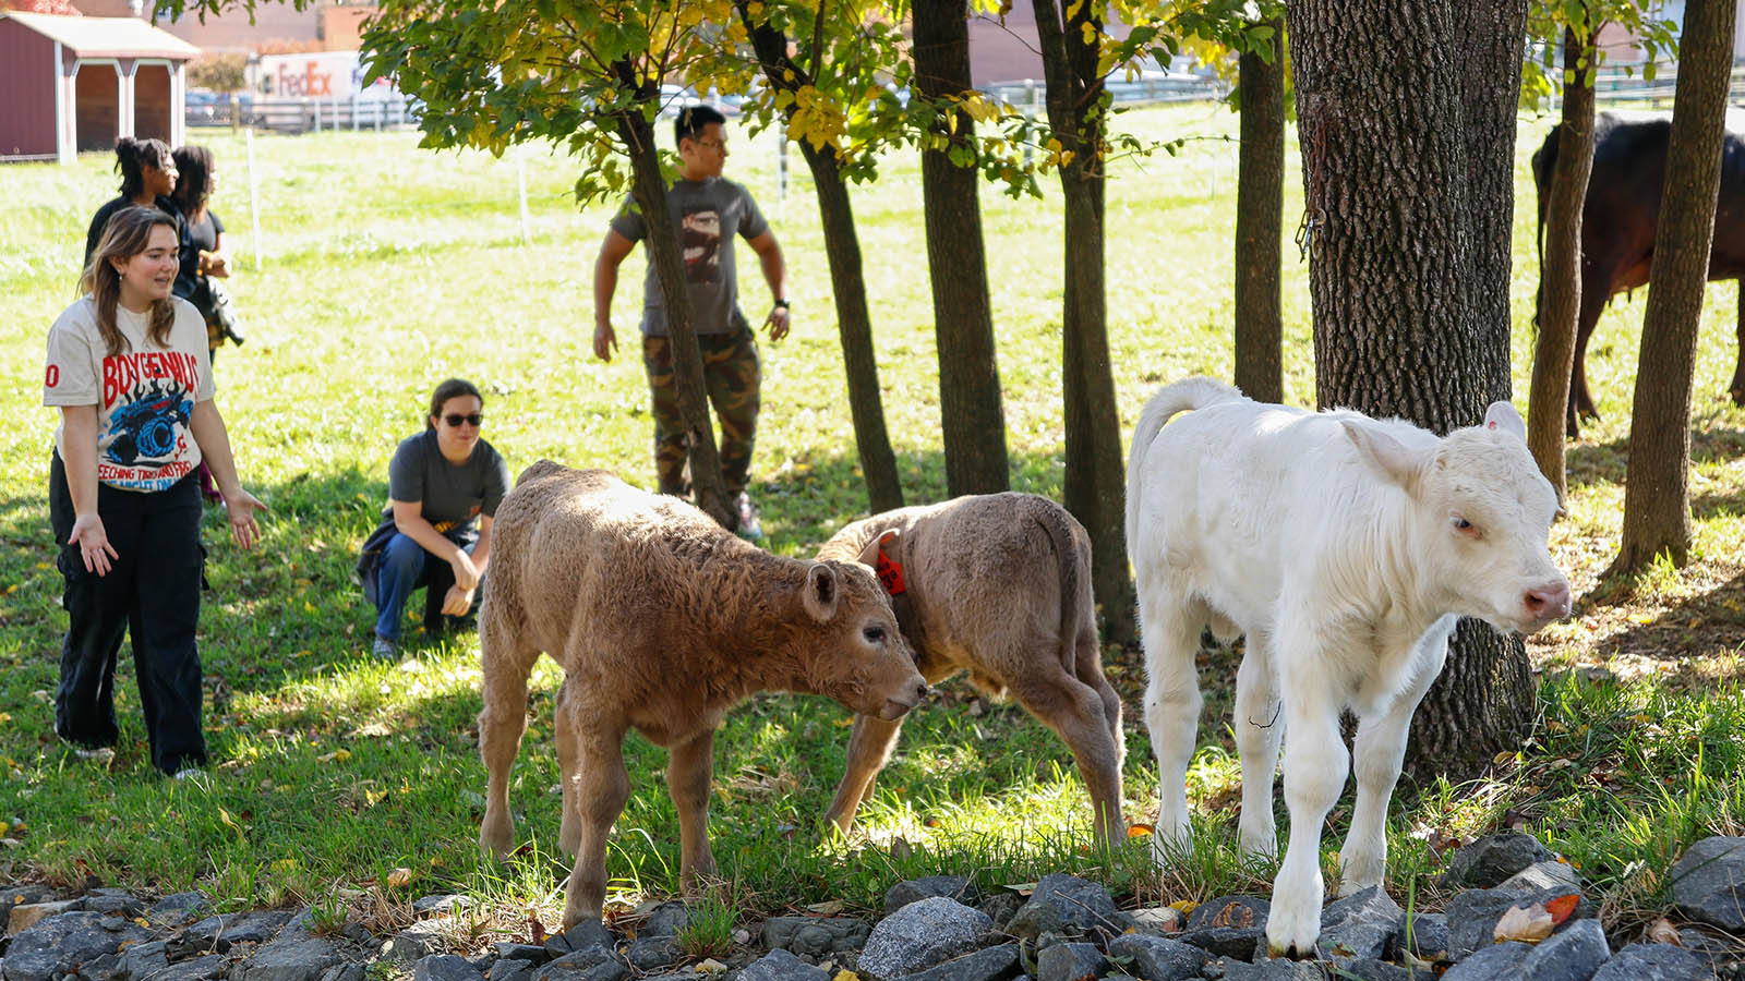
[[[539,461],[492,525],[480,611],[489,789],[482,847],[511,845],[510,768],[541,653],[565,672],[557,698],[562,843],[576,855],[564,927],[599,918],[606,834],[630,796],[623,738],[635,726],[670,751],[681,883],[715,871],[708,850],[714,737],[757,691],[829,695],[895,719],[927,693],[890,600],[864,567],[770,555],[696,508],[602,470]]]

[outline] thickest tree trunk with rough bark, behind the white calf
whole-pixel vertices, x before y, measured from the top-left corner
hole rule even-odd
[[[1314,222],[1317,401],[1447,433],[1509,396],[1509,215],[1525,0],[1286,9]],[[1462,623],[1406,768],[1464,775],[1518,745],[1518,637]]]

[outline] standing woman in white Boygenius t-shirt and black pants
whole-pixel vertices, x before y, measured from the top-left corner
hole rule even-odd
[[[206,761],[201,731],[201,497],[211,463],[243,548],[260,539],[213,401],[206,323],[169,295],[176,220],[115,211],[86,269],[86,295],[49,328],[44,405],[61,410],[49,520],[68,613],[54,731],[101,751],[117,740],[115,656],[133,634],[152,763],[183,777]]]

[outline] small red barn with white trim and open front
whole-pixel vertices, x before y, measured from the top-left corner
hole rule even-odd
[[[0,161],[70,162],[119,136],[187,134],[192,44],[136,17],[0,12]]]

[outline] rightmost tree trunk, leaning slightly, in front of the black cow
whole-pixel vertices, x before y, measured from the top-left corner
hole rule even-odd
[[[1640,569],[1661,552],[1682,566],[1691,548],[1691,374],[1721,190],[1733,21],[1733,0],[1684,5],[1679,94],[1672,105],[1666,182],[1630,415],[1625,536],[1612,571]]]

